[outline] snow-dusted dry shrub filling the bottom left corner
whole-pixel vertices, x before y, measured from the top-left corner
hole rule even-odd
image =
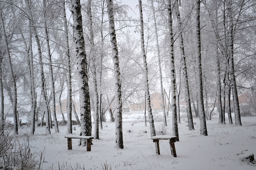
[[[43,152],[31,153],[29,135],[23,135],[23,141],[19,142],[18,135],[12,135],[10,127],[13,126],[5,121],[0,123],[0,169],[40,170]]]

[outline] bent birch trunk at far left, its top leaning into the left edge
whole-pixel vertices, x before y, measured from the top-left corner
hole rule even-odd
[[[0,9],[0,24],[2,28],[2,36],[3,36],[3,44],[5,46],[5,54],[7,55],[7,62],[8,62],[8,67],[9,67],[9,72],[11,75],[11,80],[12,80],[12,109],[13,109],[13,115],[14,115],[14,134],[18,134],[18,118],[17,118],[17,86],[16,86],[16,79],[14,76],[14,72],[12,70],[12,62],[11,62],[11,55],[10,55],[10,50],[8,46],[8,41],[5,33],[5,28],[4,28],[4,20],[2,16],[2,9]]]

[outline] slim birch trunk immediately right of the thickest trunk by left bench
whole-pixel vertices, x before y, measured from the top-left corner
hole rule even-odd
[[[88,0],[88,17],[89,17],[89,32],[91,43],[91,56],[93,60],[93,84],[94,84],[94,139],[99,139],[99,96],[97,89],[97,75],[96,75],[96,49],[94,46],[93,35],[93,16],[91,15],[91,0]]]

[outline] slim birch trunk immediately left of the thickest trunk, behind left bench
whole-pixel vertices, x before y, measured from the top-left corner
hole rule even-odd
[[[71,83],[71,63],[70,63],[70,50],[68,42],[68,25],[66,17],[65,1],[62,2],[62,17],[64,23],[64,34],[65,34],[65,58],[67,61],[67,133],[72,134],[72,83]],[[62,111],[62,110],[61,110]],[[63,112],[62,112],[63,114]],[[65,118],[63,116],[65,122]]]

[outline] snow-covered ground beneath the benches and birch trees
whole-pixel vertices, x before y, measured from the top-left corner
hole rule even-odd
[[[158,117],[158,115],[154,115]],[[101,139],[93,140],[91,151],[78,146],[79,139],[72,139],[73,149],[68,150],[67,139],[64,138],[67,127],[59,126],[60,133],[45,135],[45,127],[36,127],[35,135],[30,136],[30,148],[40,153],[44,151],[43,169],[59,169],[59,166],[76,169],[103,169],[108,165],[112,170],[144,170],[144,169],[181,169],[181,170],[255,170],[256,166],[242,162],[239,157],[256,154],[256,117],[242,117],[242,126],[234,124],[218,124],[217,116],[207,120],[208,136],[201,136],[199,118],[194,118],[195,130],[188,130],[186,118],[182,117],[178,124],[180,141],[175,143],[177,157],[170,153],[168,140],[159,142],[161,155],[155,154],[155,145],[150,139],[150,126],[144,126],[143,114],[124,113],[123,139],[124,149],[116,149],[115,126],[113,122],[103,122],[100,130]],[[234,122],[234,115],[233,115]],[[167,127],[162,122],[155,122],[156,131],[164,131],[172,135],[171,116],[167,118]],[[73,126],[74,134],[79,135],[80,128]],[[131,130],[128,133],[127,130]],[[147,133],[143,133],[143,131]],[[20,140],[29,127],[19,129]],[[93,133],[94,134],[94,124]],[[104,165],[105,164],[105,165]],[[103,167],[102,167],[103,166]],[[71,168],[70,168],[71,169]]]

